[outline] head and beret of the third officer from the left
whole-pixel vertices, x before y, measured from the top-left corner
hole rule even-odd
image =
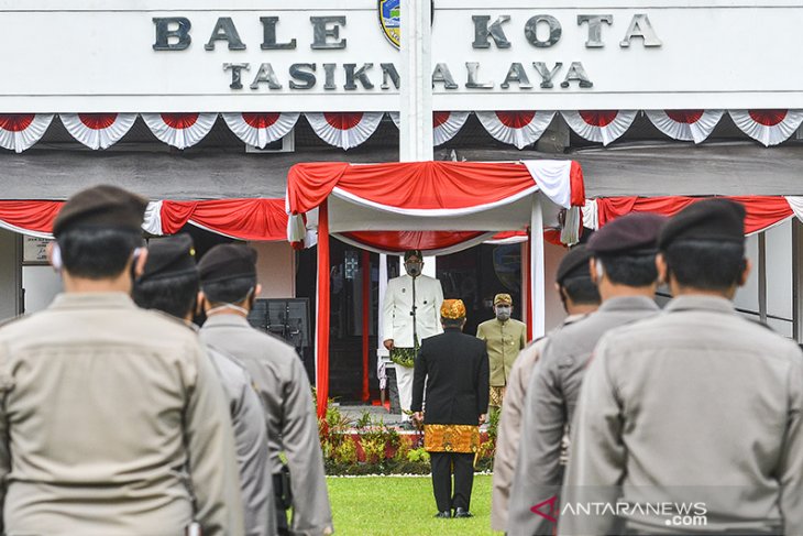
[[[239,304],[256,287],[256,251],[242,244],[220,244],[198,263],[204,295],[211,304]]]

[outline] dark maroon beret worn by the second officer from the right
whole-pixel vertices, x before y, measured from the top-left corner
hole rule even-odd
[[[657,214],[628,214],[596,231],[587,248],[592,255],[654,253],[666,223],[667,218]]]

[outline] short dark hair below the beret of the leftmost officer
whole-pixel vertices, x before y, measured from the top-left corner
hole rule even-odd
[[[133,251],[143,245],[141,232],[122,228],[75,227],[63,231],[56,242],[64,269],[89,280],[120,275]]]

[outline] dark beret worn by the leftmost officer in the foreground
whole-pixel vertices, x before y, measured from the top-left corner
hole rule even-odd
[[[53,221],[53,236],[74,227],[131,229],[142,232],[147,200],[117,186],[101,185],[67,199]]]

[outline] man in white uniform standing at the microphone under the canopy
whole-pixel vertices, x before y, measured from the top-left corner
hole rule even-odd
[[[421,274],[424,256],[419,250],[406,251],[406,275],[387,282],[382,314],[384,344],[396,364],[402,420],[409,423],[413,402],[413,365],[421,341],[442,333],[440,306],[443,289],[435,277]]]

